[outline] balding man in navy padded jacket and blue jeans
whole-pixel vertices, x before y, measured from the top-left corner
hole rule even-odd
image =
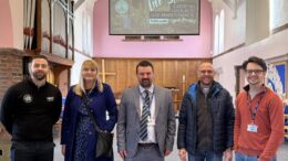
[[[198,82],[185,94],[179,110],[177,147],[182,161],[232,160],[234,106],[229,93],[214,80],[210,63],[198,67]]]

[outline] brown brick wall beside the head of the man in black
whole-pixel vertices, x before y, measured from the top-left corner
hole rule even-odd
[[[19,50],[0,49],[0,105],[6,90],[13,84],[22,80],[22,56]]]

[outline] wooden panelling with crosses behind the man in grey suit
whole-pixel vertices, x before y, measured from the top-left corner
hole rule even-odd
[[[137,85],[136,65],[142,58],[94,58],[100,66],[104,62],[105,80],[111,85],[117,99],[124,88]],[[104,61],[102,61],[104,60]],[[184,93],[192,83],[197,80],[197,66],[202,62],[212,62],[210,58],[198,60],[172,60],[172,58],[148,58],[155,73],[155,84],[162,87],[169,87],[173,90],[175,108],[179,107]],[[111,75],[112,73],[112,75]],[[113,75],[114,74],[114,75]]]

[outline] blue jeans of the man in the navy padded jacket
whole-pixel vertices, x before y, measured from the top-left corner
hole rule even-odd
[[[195,154],[188,153],[188,161],[222,161],[222,152],[214,152],[212,150],[196,151]]]

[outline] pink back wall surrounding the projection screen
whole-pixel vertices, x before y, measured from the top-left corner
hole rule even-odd
[[[210,57],[212,6],[200,0],[200,35],[183,35],[174,42],[123,42],[122,35],[109,35],[109,0],[94,4],[94,56],[192,58]]]

